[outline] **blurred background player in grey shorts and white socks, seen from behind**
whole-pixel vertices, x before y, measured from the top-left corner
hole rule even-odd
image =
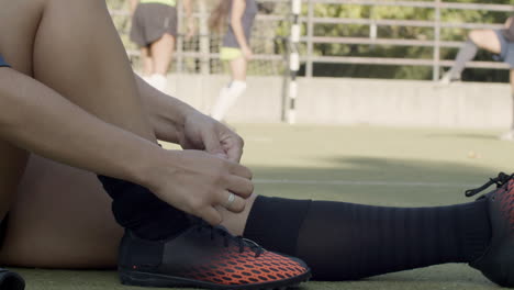
[[[191,0],[185,0],[187,37],[194,34]],[[131,0],[131,40],[141,47],[143,78],[158,90],[166,90],[178,35],[177,0]]]

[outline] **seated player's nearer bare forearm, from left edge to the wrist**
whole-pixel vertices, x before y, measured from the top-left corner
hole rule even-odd
[[[0,69],[0,138],[97,174],[144,185],[161,150],[13,69]]]

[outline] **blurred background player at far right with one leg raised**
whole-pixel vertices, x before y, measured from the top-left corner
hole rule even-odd
[[[455,65],[440,79],[442,83],[450,83],[460,80],[460,75],[466,67],[466,63],[472,60],[482,48],[496,55],[496,60],[504,62],[511,67],[511,88],[514,100],[514,23],[513,18],[509,18],[505,27],[502,30],[472,30],[469,38],[460,48],[455,60]],[[513,113],[514,116],[514,103]],[[514,140],[514,118],[509,132],[500,136],[502,140]]]

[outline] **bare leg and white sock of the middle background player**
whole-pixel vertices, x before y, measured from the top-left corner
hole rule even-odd
[[[228,110],[246,90],[246,71],[248,63],[244,56],[230,62],[232,81],[220,91],[220,96],[212,109],[212,118],[224,120]]]

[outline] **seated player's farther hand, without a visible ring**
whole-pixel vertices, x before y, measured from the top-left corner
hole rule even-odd
[[[186,116],[183,129],[178,132],[178,141],[185,149],[205,150],[233,163],[238,163],[243,155],[243,138],[200,112]]]

